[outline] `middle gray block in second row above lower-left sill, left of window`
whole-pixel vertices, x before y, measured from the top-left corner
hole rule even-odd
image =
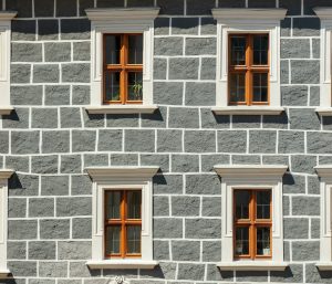
[[[70,220],[69,219],[42,219],[40,220],[40,238],[49,239],[69,239]]]

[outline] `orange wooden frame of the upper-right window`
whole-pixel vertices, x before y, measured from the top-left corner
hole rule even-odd
[[[229,105],[269,105],[270,104],[270,46],[268,49],[268,64],[255,65],[253,64],[253,36],[255,35],[268,35],[267,33],[252,33],[252,34],[229,34],[228,38],[228,104]],[[246,64],[245,65],[231,65],[231,39],[234,36],[246,36]],[[237,73],[246,73],[245,82],[245,102],[231,102],[230,101],[230,75]],[[268,101],[267,102],[253,102],[253,73],[267,73],[268,74]]]

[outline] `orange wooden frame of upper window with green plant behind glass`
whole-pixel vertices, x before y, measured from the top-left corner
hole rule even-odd
[[[121,51],[120,51],[120,64],[106,64],[106,36],[107,35],[120,35],[121,36]],[[114,34],[105,33],[103,39],[103,103],[104,104],[142,104],[143,101],[129,101],[128,99],[128,73],[143,73],[143,64],[128,64],[128,39],[129,35],[142,35],[139,33],[124,33]],[[106,99],[106,73],[107,72],[120,72],[120,101]]]

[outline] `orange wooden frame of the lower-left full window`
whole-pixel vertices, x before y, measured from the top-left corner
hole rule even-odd
[[[142,230],[142,191],[139,190],[112,190],[112,192],[120,192],[121,193],[121,206],[120,206],[120,219],[107,219],[106,217],[106,208],[110,206],[107,200],[107,192],[111,190],[105,191],[105,208],[104,208],[104,215],[105,215],[105,238],[104,238],[104,248],[105,248],[105,257],[117,257],[117,259],[127,259],[127,257],[141,257],[142,256],[142,248],[141,253],[127,253],[127,235],[126,235],[126,227],[127,225],[139,225]],[[141,219],[127,219],[127,196],[128,192],[139,192],[141,194],[141,208],[139,214]],[[121,225],[121,243],[120,243],[120,253],[107,254],[106,252],[106,242],[107,242],[107,227],[118,227]]]

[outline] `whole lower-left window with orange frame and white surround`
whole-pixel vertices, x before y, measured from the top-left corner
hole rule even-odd
[[[152,178],[158,167],[86,168],[93,180],[90,269],[153,269]]]

